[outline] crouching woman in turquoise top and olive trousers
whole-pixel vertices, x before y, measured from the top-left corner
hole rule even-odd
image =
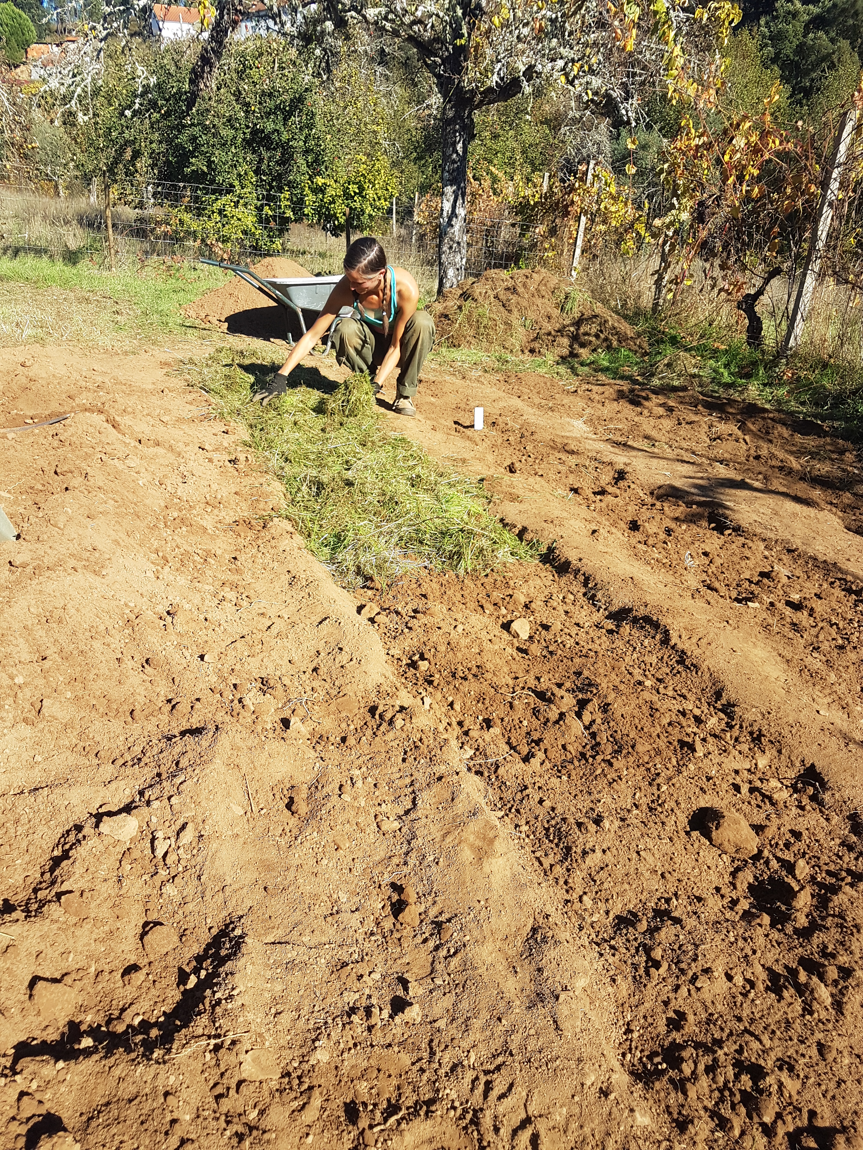
[[[367,370],[376,396],[398,369],[392,411],[398,415],[415,415],[413,398],[419,374],[435,342],[434,320],[428,312],[417,310],[418,300],[417,281],[404,268],[387,263],[387,255],[374,237],[354,240],[344,258],[344,275],[323,310],[297,342],[270,386],[254,398],[266,404],[273,396],[282,394],[297,363],[323,338],[342,308],[350,307],[352,315],[343,316],[335,330],[337,362],[352,371]]]

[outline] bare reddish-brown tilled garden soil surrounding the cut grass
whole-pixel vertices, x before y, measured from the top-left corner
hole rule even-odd
[[[437,362],[555,550],[349,596],[175,355],[21,360],[3,1145],[863,1145],[847,444]]]

